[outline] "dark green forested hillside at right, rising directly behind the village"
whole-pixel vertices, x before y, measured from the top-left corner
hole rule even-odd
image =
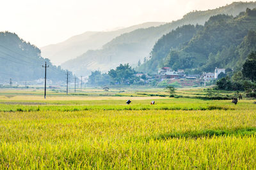
[[[174,38],[169,41],[167,34],[154,46],[151,58],[139,70],[155,72],[158,67],[169,66],[172,69],[194,69],[212,71],[215,67],[241,69],[246,56],[255,50],[256,10],[247,9],[237,17],[216,15],[197,31],[193,38],[175,48]],[[189,25],[187,26],[189,27]],[[179,29],[173,31],[179,36]],[[170,46],[171,45],[171,46]],[[168,46],[169,52],[160,46]]]

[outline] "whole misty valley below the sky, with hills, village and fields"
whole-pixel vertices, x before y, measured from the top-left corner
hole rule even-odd
[[[256,2],[40,47],[17,32],[0,32],[0,169],[256,169]]]

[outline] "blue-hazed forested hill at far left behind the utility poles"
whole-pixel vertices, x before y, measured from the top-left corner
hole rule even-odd
[[[27,43],[11,32],[0,32],[0,82],[33,81],[44,78],[43,64],[47,62],[47,78],[65,81],[66,71],[52,66],[49,59],[41,57],[39,48]],[[70,75],[72,78],[72,75]]]

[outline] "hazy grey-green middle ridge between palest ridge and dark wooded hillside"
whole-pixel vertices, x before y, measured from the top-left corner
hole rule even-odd
[[[241,11],[245,11],[246,8],[255,7],[255,2],[239,2],[232,3],[215,10],[193,11],[185,15],[182,19],[173,21],[169,24],[160,25],[159,27],[150,27],[147,29],[137,29],[135,31],[122,34],[104,45],[101,50],[90,50],[76,59],[68,60],[61,66],[81,75],[88,75],[91,71],[98,69],[106,72],[119,64],[127,62],[132,66],[136,66],[138,60],[143,60],[145,57],[149,58],[150,51],[152,51],[152,48],[159,38],[177,27],[182,27],[182,25],[187,24],[204,25],[212,15],[238,15]],[[154,51],[152,54],[153,53]],[[150,65],[149,67],[152,66]],[[147,68],[143,70],[147,71]]]

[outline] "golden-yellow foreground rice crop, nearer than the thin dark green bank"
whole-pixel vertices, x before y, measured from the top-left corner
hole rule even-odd
[[[250,108],[0,112],[0,132],[1,169],[256,167]]]

